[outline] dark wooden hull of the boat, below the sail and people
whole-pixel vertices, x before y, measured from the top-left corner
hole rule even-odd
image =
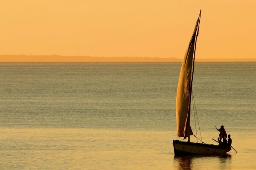
[[[231,147],[214,144],[201,144],[193,142],[181,142],[173,140],[175,156],[185,155],[221,155],[229,152]]]

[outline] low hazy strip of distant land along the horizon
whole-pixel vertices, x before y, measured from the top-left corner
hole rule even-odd
[[[0,55],[0,62],[182,62],[182,58]],[[256,58],[196,59],[196,62],[256,62]]]

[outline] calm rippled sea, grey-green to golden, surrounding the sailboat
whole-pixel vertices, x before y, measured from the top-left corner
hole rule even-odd
[[[227,156],[174,157],[180,66],[0,63],[0,169],[256,169],[256,62],[195,63],[192,130]]]

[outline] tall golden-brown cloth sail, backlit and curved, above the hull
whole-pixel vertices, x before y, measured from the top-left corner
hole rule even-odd
[[[177,122],[177,135],[180,137],[189,137],[193,135],[190,127],[190,97],[192,91],[192,66],[194,57],[195,41],[198,32],[198,22],[200,15],[195,25],[195,29],[192,38],[189,42],[189,47],[186,50],[185,57],[183,59],[180,78],[177,88],[176,96],[176,122]]]

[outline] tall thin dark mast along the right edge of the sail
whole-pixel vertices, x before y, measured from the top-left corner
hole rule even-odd
[[[197,37],[199,34],[199,25],[200,25],[200,20],[201,20],[201,10],[199,13],[199,21],[198,21],[198,28],[197,28],[197,33],[195,36],[195,48],[194,48],[194,53],[193,53],[193,65],[192,65],[192,77],[191,80],[189,81],[189,108],[188,108],[188,116],[187,116],[187,120],[190,120],[190,108],[191,108],[191,96],[192,96],[192,83],[193,83],[193,77],[194,77],[194,67],[195,67],[195,50],[196,50],[196,42],[197,42]],[[188,125],[186,123],[186,127],[185,127],[185,134],[184,134],[184,139],[186,139],[186,134],[187,134],[187,128]]]

